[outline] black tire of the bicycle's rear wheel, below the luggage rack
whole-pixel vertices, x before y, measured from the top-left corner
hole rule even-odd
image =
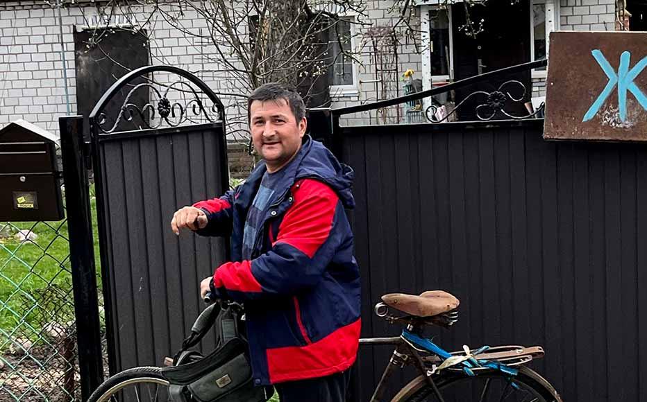
[[[439,378],[435,378],[435,382],[441,394],[443,394],[443,391],[446,391],[452,385],[459,385],[462,387],[463,385],[461,384],[470,382],[474,383],[477,380],[482,381],[484,378],[486,379],[487,384],[489,384],[487,378],[495,378],[497,380],[507,381],[508,383],[516,383],[517,386],[521,385],[521,387],[528,390],[528,392],[536,394],[537,398],[531,399],[530,401],[562,402],[562,397],[557,393],[553,385],[548,383],[548,381],[537,374],[537,372],[524,366],[519,367],[519,374],[514,376],[513,381],[510,381],[510,376],[507,376],[507,374],[504,374],[503,372],[487,370],[485,372],[477,372],[476,376],[467,376],[467,374],[457,372],[445,372],[444,374],[441,374]],[[458,390],[464,390],[464,388],[456,388]],[[487,385],[485,385],[485,391],[483,391],[483,394],[485,393],[487,393]],[[483,401],[483,394],[480,399],[476,399],[476,401]],[[465,401],[467,399],[461,398],[461,400]],[[498,400],[507,401],[507,398],[502,397]],[[422,401],[438,401],[431,385],[426,381],[424,376],[414,378],[392,399],[392,402]],[[449,401],[452,401],[452,399],[449,399]],[[446,402],[448,402],[448,399],[446,399]]]

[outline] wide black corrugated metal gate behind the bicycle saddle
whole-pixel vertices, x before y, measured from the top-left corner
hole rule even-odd
[[[373,314],[381,295],[444,289],[461,299],[457,325],[430,332],[444,346],[539,344],[531,367],[564,401],[646,401],[647,145],[544,141],[543,119],[339,125],[442,90],[333,110],[355,169],[362,336],[401,330]],[[481,116],[501,114],[501,94],[479,96]],[[351,400],[391,352],[360,349]]]

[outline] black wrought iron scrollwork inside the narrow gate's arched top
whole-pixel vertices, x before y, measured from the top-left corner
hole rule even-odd
[[[160,92],[157,88],[158,86],[165,86],[166,89]],[[149,94],[156,99],[140,107],[131,103],[131,98],[133,98],[133,95],[137,91],[142,90],[149,91]],[[169,93],[171,91],[177,91],[179,99],[169,99]],[[162,125],[177,127],[187,122],[213,123],[224,119],[224,116],[221,116],[221,114],[222,112],[219,111],[215,103],[211,107],[206,107],[199,93],[189,82],[178,80],[168,85],[154,85],[151,82],[144,82],[135,85],[133,89],[128,91],[112,127],[105,127],[108,119],[104,112],[99,114],[97,123],[101,133],[110,134],[117,131],[119,124],[124,121],[134,123],[135,116],[138,118],[137,123],[144,126],[137,128],[160,128]]]

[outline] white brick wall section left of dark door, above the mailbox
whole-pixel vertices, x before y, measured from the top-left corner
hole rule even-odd
[[[62,10],[67,16],[67,10]],[[58,132],[66,113],[59,28],[54,10],[43,1],[7,2],[0,6],[0,125],[16,119]],[[63,27],[72,112],[76,112],[74,44]]]

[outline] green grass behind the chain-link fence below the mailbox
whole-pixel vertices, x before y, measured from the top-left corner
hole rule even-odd
[[[91,191],[93,193],[93,191]],[[96,221],[96,202],[91,199]],[[19,241],[20,229],[37,235]],[[0,222],[0,330],[10,338],[37,338],[42,326],[74,320],[67,220]],[[101,288],[99,241],[94,227],[97,285]],[[1,348],[1,342],[0,342]]]

